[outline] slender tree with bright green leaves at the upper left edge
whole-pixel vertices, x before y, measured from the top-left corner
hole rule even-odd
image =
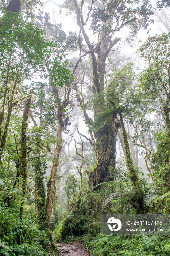
[[[45,42],[43,38],[43,31],[38,27],[33,26],[28,21],[28,16],[24,20],[22,16],[7,14],[7,18],[13,17],[13,26],[3,22],[0,28],[0,41],[1,54],[0,54],[0,80],[1,84],[1,98],[3,99],[0,112],[0,159],[3,155],[6,138],[8,134],[8,127],[13,108],[26,98],[34,86],[38,89],[39,93],[46,83],[32,82],[31,86],[26,87],[23,82],[26,78],[36,78],[35,72],[41,78],[46,79],[48,75],[42,60],[47,60],[49,67],[53,65],[53,61],[49,58],[51,51],[57,46],[54,41]],[[14,19],[15,18],[15,19]],[[5,37],[4,37],[5,35]],[[29,38],[29,39],[28,39]],[[59,61],[54,60],[54,68],[58,71],[60,68]],[[55,75],[54,75],[55,76]],[[53,76],[53,83],[55,78]],[[62,78],[61,78],[62,79]],[[61,80],[58,80],[60,83]],[[60,83],[61,84],[61,83]],[[21,91],[22,90],[22,93]],[[22,96],[22,94],[26,96]],[[16,100],[15,98],[18,97]],[[7,104],[8,99],[8,104]],[[5,118],[5,108],[7,107],[7,118]],[[4,125],[4,126],[3,126]]]

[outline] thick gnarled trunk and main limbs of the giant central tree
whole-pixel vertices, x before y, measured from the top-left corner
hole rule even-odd
[[[108,33],[109,26],[108,22],[105,22],[103,24],[102,29],[100,30],[97,46],[98,48],[96,50],[98,58],[96,58],[93,44],[90,43],[89,37],[84,29],[85,23],[82,17],[82,7],[80,8],[80,6],[77,3],[77,0],[73,0],[73,3],[76,9],[78,26],[80,27],[80,31],[82,32],[86,44],[89,48],[89,55],[90,60],[92,61],[93,74],[92,91],[95,95],[96,93],[101,93],[102,91],[104,91],[106,59],[110,50],[114,45],[117,44],[117,42],[120,41],[120,38],[116,38],[115,40],[113,40],[113,42],[110,42]],[[79,97],[79,100],[81,99],[81,97]],[[83,104],[83,101],[80,101],[80,105],[83,106]],[[94,119],[97,113],[98,110],[94,110]],[[93,121],[89,118],[85,110],[83,111],[83,114],[85,117],[86,124],[90,126]],[[94,166],[93,172],[91,172],[89,175],[89,184],[97,185],[102,182],[112,180],[111,168],[116,167],[116,136],[118,127],[119,124],[117,124],[117,117],[115,114],[115,116],[108,121],[108,124],[105,124],[103,128],[100,128],[98,132],[94,133],[94,138],[96,139],[94,152],[96,154],[97,162]]]

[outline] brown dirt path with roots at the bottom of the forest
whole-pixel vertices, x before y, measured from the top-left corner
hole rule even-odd
[[[82,244],[56,244],[61,252],[61,256],[92,256]]]

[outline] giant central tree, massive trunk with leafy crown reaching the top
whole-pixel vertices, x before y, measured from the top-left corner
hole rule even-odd
[[[71,2],[72,3],[72,2]],[[135,7],[135,2],[129,5],[129,2],[110,1],[109,3],[102,1],[102,8],[94,6],[95,1],[92,1],[88,8],[86,18],[84,14],[84,1],[81,1],[79,6],[76,0],[73,0],[72,10],[76,14],[77,24],[80,27],[78,36],[78,44],[81,52],[89,54],[92,61],[93,85],[92,91],[94,98],[98,93],[104,91],[105,67],[109,52],[112,50],[121,38],[116,38],[115,33],[121,31],[124,27],[129,27],[131,33],[128,40],[132,41],[138,30],[143,27],[148,28],[148,24],[152,22],[149,16],[153,14],[151,5],[148,1],[142,1],[138,7]],[[65,2],[65,7],[69,8],[69,2]],[[90,42],[90,38],[85,31],[85,25],[91,18],[90,30],[96,35],[97,43]],[[85,44],[82,44],[81,35],[84,38]],[[81,100],[80,100],[81,99]],[[93,120],[89,118],[88,113],[84,109],[84,101],[82,95],[79,95],[78,101],[83,109],[85,122],[90,127]],[[98,110],[94,110],[94,120],[96,120]],[[96,152],[97,162],[93,172],[90,173],[89,183],[97,185],[111,179],[110,169],[115,168],[115,150],[116,150],[116,135],[120,125],[117,122],[117,114],[112,116],[110,125],[104,125],[97,132],[90,133]],[[94,140],[95,138],[95,140]]]

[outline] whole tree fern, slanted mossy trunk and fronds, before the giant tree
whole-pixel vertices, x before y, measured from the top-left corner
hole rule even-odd
[[[102,128],[105,124],[110,124],[110,119],[115,113],[119,114],[121,128],[123,132],[125,159],[127,169],[132,186],[138,188],[136,193],[136,202],[138,213],[146,213],[144,208],[144,200],[140,191],[138,170],[134,166],[132,160],[130,146],[128,142],[128,135],[125,129],[123,119],[128,115],[138,116],[140,115],[140,108],[142,105],[142,98],[138,97],[136,91],[132,87],[132,81],[134,79],[134,72],[132,71],[132,64],[128,63],[120,70],[117,70],[115,76],[113,76],[107,90],[103,93],[99,93],[98,97],[94,100],[94,108],[100,109],[96,116],[96,121],[92,124],[94,132]],[[102,102],[102,99],[104,101]]]

